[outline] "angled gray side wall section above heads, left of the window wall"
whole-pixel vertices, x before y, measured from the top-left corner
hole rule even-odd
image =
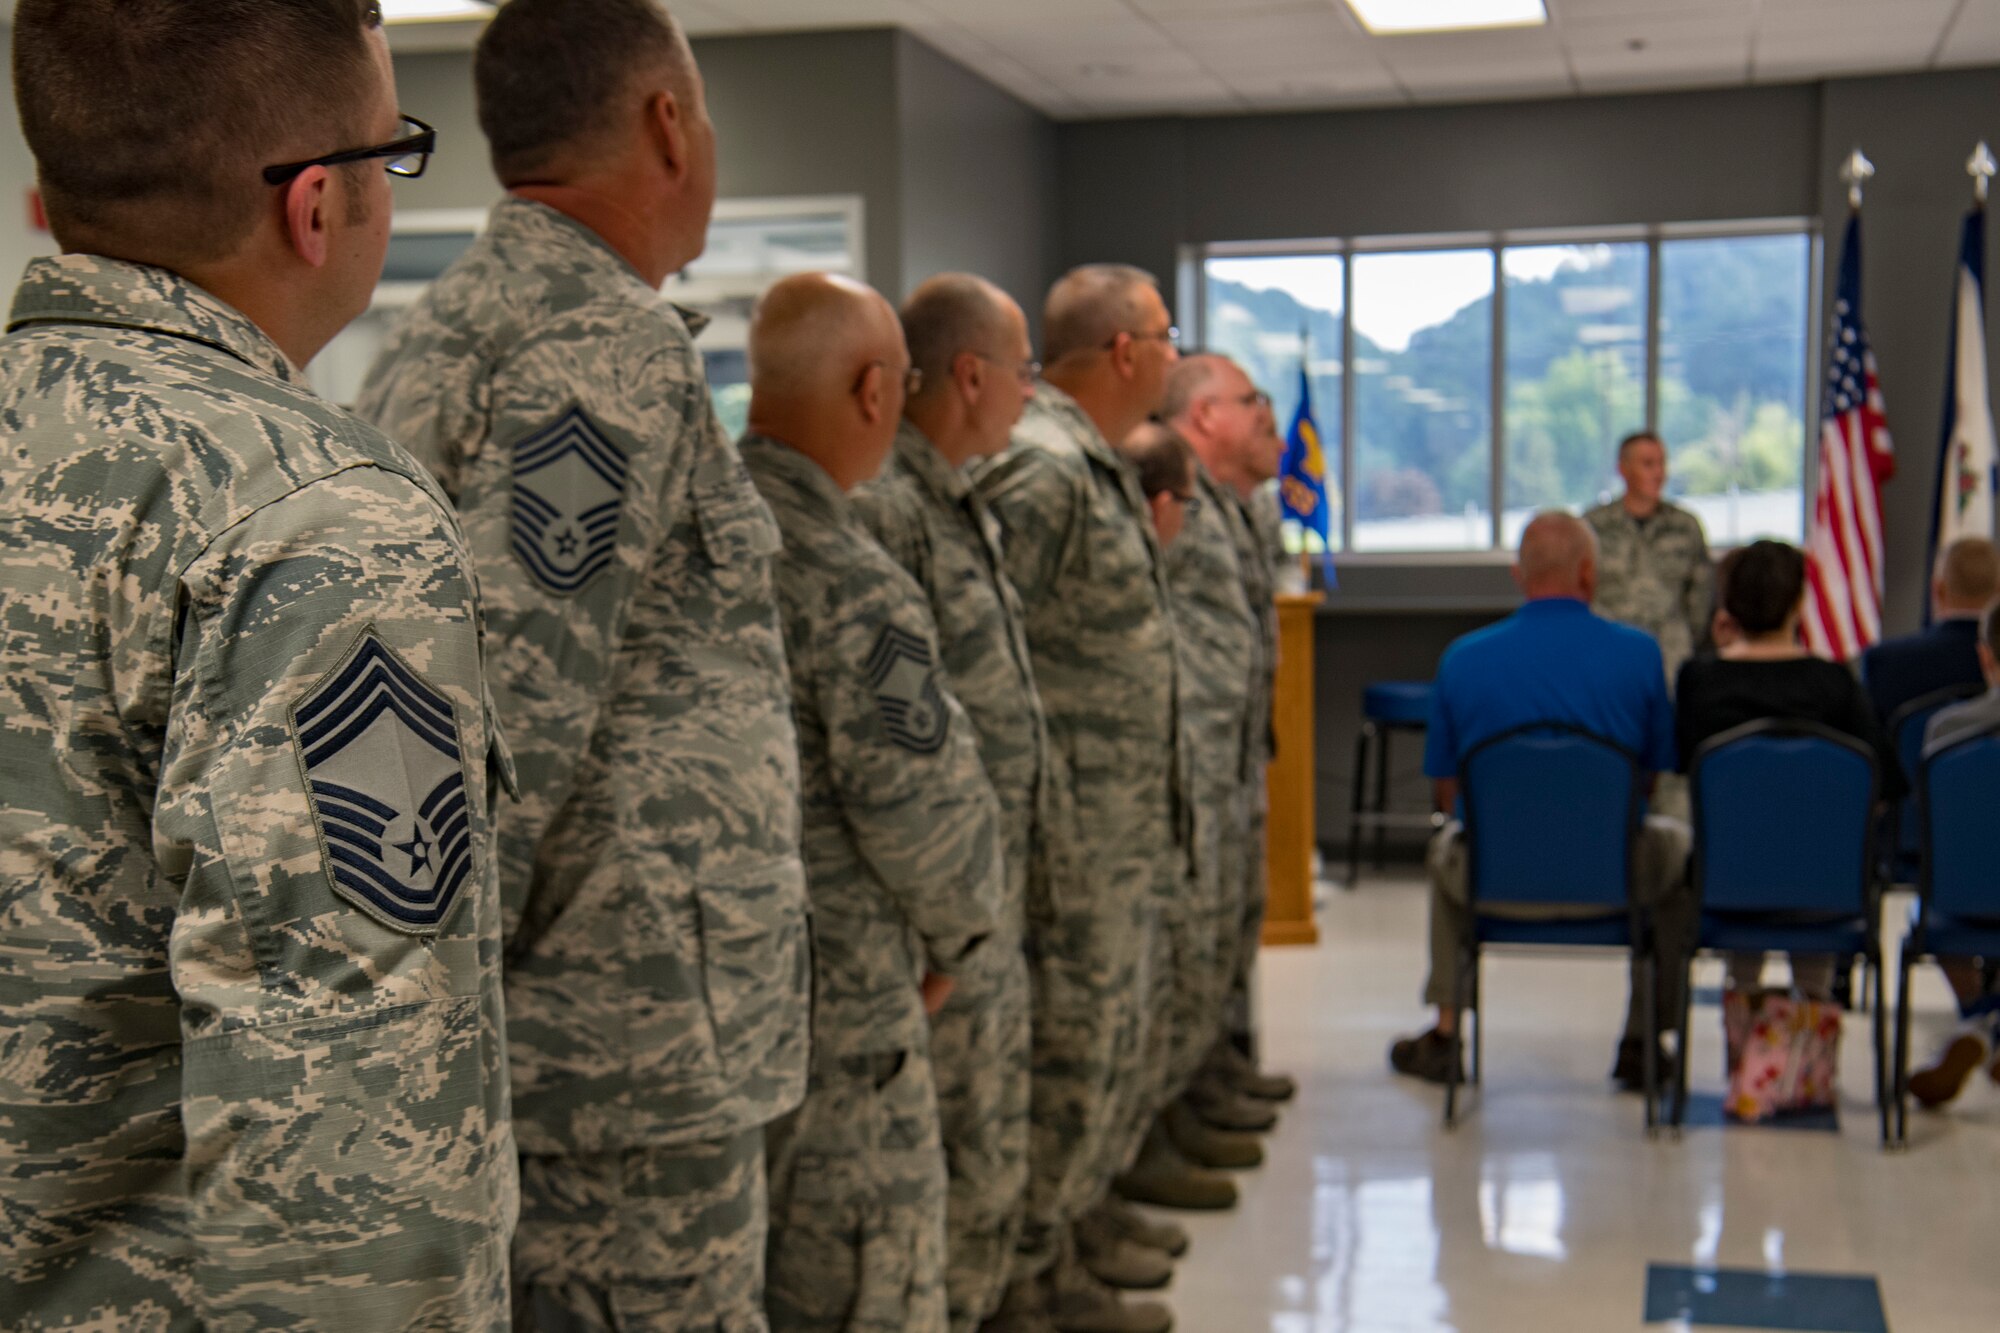
[[[908,34],[896,94],[902,290],[970,270],[1038,324],[1056,252],[1056,126]]]

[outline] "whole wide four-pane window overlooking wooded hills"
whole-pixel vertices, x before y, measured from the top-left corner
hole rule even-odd
[[[1804,530],[1806,222],[1206,246],[1196,262],[1200,342],[1238,358],[1282,424],[1310,366],[1336,550],[1510,548],[1538,508],[1616,496],[1618,440],[1642,428],[1714,544]]]

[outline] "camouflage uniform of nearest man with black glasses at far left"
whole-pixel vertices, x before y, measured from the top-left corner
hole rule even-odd
[[[504,1329],[470,560],[242,314],[92,256],[0,342],[0,1325]]]

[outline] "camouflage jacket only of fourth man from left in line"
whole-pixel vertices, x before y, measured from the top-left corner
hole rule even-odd
[[[1020,596],[1000,554],[1000,524],[972,478],[910,422],[882,474],[854,492],[860,520],[916,578],[938,626],[944,681],[978,733],[980,761],[1008,825],[1028,829],[1044,865],[1026,867],[1030,895],[1048,893],[1056,847],[1044,781],[1048,725],[1034,693],[1034,666]],[[1024,905],[1008,903],[1008,921]]]

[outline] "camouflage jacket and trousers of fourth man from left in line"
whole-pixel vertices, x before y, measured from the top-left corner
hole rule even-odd
[[[972,478],[904,422],[882,476],[854,492],[876,540],[924,588],[938,624],[944,681],[978,735],[1000,799],[1006,895],[1000,925],[958,977],[930,1027],[938,1079],[946,1213],[946,1289],[954,1333],[1000,1307],[1028,1191],[1028,903],[1048,921],[1042,801],[1048,731],[1034,693],[1020,598],[1006,580],[1000,528]],[[1030,889],[1032,885],[1032,889]]]

